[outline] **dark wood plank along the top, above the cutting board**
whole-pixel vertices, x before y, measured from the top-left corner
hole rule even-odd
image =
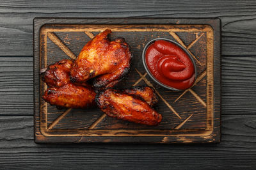
[[[0,55],[33,55],[35,17],[220,17],[222,54],[253,55],[256,48],[255,1],[2,1]],[[136,4],[136,6],[134,6]],[[49,7],[51,6],[51,7]],[[77,7],[79,6],[79,7]],[[161,10],[159,10],[161,9]]]

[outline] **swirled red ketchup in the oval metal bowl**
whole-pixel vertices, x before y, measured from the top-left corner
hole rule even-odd
[[[156,40],[145,54],[148,70],[161,83],[188,89],[195,82],[195,68],[188,54],[172,42]]]

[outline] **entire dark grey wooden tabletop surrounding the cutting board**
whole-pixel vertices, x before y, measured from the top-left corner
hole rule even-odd
[[[35,144],[34,17],[220,17],[220,144]],[[0,166],[255,169],[256,1],[0,1]]]

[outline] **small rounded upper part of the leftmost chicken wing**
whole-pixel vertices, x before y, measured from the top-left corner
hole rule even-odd
[[[61,87],[64,84],[70,82],[69,72],[73,65],[71,59],[62,59],[49,65],[47,70],[44,72],[44,82],[49,87]]]

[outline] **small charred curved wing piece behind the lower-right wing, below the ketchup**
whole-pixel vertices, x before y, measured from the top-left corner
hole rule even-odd
[[[133,86],[132,88],[124,89],[123,92],[127,95],[136,95],[143,98],[150,106],[154,106],[158,102],[154,89],[148,86]]]

